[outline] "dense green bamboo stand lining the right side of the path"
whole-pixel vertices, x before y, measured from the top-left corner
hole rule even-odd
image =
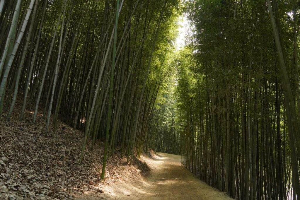
[[[300,199],[299,1],[187,1],[156,151],[235,199]],[[167,115],[165,114],[167,110]]]

